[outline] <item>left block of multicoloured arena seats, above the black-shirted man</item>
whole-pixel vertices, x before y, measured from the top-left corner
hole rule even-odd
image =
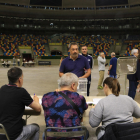
[[[4,56],[19,56],[19,46],[32,46],[34,55],[45,56],[44,45],[47,43],[45,35],[0,35],[0,48]]]

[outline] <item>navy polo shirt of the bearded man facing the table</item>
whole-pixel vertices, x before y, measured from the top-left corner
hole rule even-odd
[[[84,69],[90,69],[89,62],[84,56],[78,55],[75,61],[70,56],[65,58],[61,63],[59,71],[62,73],[72,72],[81,77],[85,74]]]

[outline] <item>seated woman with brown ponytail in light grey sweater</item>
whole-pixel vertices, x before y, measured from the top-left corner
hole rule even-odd
[[[91,127],[97,127],[102,122],[102,126],[96,130],[98,140],[105,134],[105,127],[109,124],[132,123],[133,117],[140,117],[137,103],[127,95],[119,95],[120,84],[117,79],[107,77],[103,82],[103,90],[107,97],[92,106],[89,112]]]

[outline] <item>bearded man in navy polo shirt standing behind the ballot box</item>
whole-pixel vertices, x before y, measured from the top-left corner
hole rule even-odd
[[[75,42],[70,43],[70,55],[65,58],[59,69],[59,76],[61,77],[64,73],[72,72],[79,78],[87,78],[91,74],[88,60],[79,55],[78,44]],[[85,73],[85,69],[87,73]]]

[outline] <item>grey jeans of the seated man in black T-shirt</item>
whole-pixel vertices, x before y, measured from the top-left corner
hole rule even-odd
[[[39,140],[39,130],[40,128],[37,124],[25,125],[16,140]]]

